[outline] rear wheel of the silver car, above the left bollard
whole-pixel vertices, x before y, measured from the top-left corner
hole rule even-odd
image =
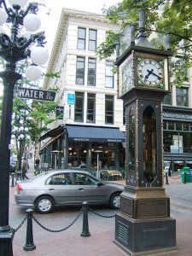
[[[54,201],[48,195],[42,195],[35,202],[35,209],[40,213],[49,213],[54,208]]]

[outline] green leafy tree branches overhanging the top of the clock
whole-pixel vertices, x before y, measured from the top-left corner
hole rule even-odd
[[[146,32],[153,34],[152,44],[165,49],[166,33],[171,36],[171,48],[177,58],[172,61],[173,84],[182,86],[188,81],[186,69],[192,67],[192,2],[191,0],[123,0],[109,9],[103,9],[108,20],[119,24],[120,32],[108,32],[106,41],[96,50],[100,58],[113,54],[117,40],[122,36],[127,25],[136,27],[138,34],[139,10],[146,11]]]

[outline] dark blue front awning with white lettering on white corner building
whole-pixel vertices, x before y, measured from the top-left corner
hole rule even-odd
[[[124,143],[125,135],[118,128],[66,125],[68,139],[75,142]]]

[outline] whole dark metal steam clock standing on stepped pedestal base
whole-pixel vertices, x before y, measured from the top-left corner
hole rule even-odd
[[[119,97],[126,108],[126,186],[115,218],[115,243],[129,255],[176,250],[176,221],[162,180],[162,102],[169,92],[167,49],[145,35],[140,11],[137,44],[119,55]],[[168,36],[167,36],[168,38]]]

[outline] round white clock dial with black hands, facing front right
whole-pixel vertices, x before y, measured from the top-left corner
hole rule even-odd
[[[137,75],[143,84],[156,86],[163,81],[163,68],[158,61],[143,59],[137,65]]]

